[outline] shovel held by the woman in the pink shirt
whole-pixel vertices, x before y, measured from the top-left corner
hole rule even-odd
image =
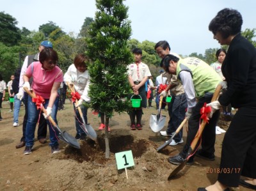
[[[31,96],[32,98],[36,98],[35,92],[31,93],[31,91],[28,90],[28,88],[24,88],[24,90],[26,91],[26,93],[28,93],[29,96]],[[42,111],[47,114],[47,111],[45,110],[44,106],[42,105],[41,107]],[[66,142],[67,144],[69,144],[70,146],[79,149],[80,145],[77,142],[75,137],[72,137],[72,135],[68,134],[68,132],[66,131],[61,131],[60,127],[55,123],[55,121],[52,119],[51,116],[48,117],[49,121],[51,122],[51,124],[53,125],[57,136],[64,142]]]

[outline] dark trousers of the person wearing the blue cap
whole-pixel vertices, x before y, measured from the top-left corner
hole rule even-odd
[[[25,115],[22,124],[22,137],[20,141],[25,141],[26,138],[26,126],[28,121],[28,94],[24,93],[24,105],[25,105]],[[40,114],[40,120],[37,130],[37,139],[45,138],[47,134],[47,121],[43,116],[43,112]]]

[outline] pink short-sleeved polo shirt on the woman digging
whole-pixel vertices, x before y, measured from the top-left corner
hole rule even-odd
[[[44,70],[39,61],[28,66],[26,76],[33,77],[33,91],[35,91],[36,95],[40,95],[45,99],[50,98],[54,82],[63,82],[63,73],[58,66],[55,66],[51,71]]]

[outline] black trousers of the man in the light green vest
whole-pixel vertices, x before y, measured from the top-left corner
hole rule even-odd
[[[198,131],[199,124],[200,124],[200,117],[202,116],[200,114],[200,109],[204,106],[205,102],[210,103],[211,98],[212,98],[212,95],[203,96],[198,100],[195,108],[193,109],[193,113],[188,121],[187,141],[183,150],[180,152],[180,155],[183,158],[186,158],[190,144],[195,138],[195,135]],[[205,153],[205,155],[209,155],[209,156],[214,155],[214,152],[215,152],[214,144],[216,139],[215,128],[216,128],[216,124],[218,122],[219,116],[220,116],[220,111],[214,112],[214,114],[212,115],[212,118],[209,120],[209,123],[205,125],[204,131],[202,132],[202,151]],[[199,142],[200,141],[198,141],[198,144]],[[195,157],[195,155],[193,155],[192,157]]]

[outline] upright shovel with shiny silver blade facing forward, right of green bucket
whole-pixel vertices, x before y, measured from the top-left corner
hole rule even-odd
[[[163,127],[166,120],[166,116],[161,116],[161,107],[163,102],[163,96],[160,96],[159,109],[156,114],[151,114],[149,125],[153,132],[159,132]]]

